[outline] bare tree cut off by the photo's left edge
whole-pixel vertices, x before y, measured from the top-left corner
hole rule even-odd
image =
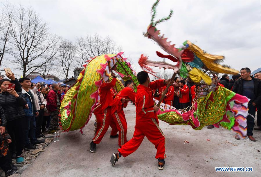
[[[11,24],[14,20],[13,9],[8,1],[5,4],[3,10],[1,10],[1,19],[0,19],[0,67],[5,53],[10,53],[10,38],[11,38]]]

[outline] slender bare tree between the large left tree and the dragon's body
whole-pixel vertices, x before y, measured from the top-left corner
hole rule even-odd
[[[69,40],[62,41],[60,46],[60,65],[65,74],[65,79],[68,79],[69,72],[71,71],[71,66],[75,61],[76,46]]]

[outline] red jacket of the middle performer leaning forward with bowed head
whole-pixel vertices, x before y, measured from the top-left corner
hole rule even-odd
[[[128,105],[128,102],[125,101],[122,105],[121,103],[121,98],[126,98],[126,99],[130,99],[132,100],[132,102],[135,103],[135,92],[133,91],[133,89],[129,88],[129,87],[125,87],[124,89],[122,89],[121,91],[119,91],[119,93],[117,93],[117,95],[114,98],[114,103],[111,106],[111,113],[115,113],[116,111],[120,111],[122,108],[126,108]]]

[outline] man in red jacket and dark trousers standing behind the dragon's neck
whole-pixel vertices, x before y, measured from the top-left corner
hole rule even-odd
[[[186,109],[190,102],[189,102],[189,88],[186,85],[186,82],[184,80],[181,80],[179,82],[179,103],[181,106],[181,109]]]

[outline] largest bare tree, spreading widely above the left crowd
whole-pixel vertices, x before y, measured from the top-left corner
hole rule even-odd
[[[59,50],[59,37],[48,32],[47,23],[30,6],[17,8],[11,29],[13,62],[24,77],[50,62]]]

